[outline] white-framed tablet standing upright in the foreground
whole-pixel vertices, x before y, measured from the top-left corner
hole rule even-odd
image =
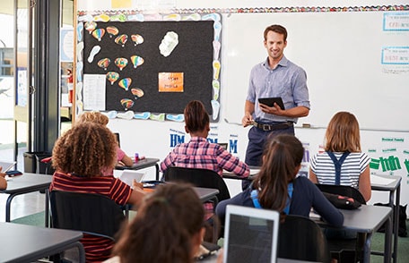
[[[280,214],[277,211],[228,205],[223,262],[275,263],[279,225]]]

